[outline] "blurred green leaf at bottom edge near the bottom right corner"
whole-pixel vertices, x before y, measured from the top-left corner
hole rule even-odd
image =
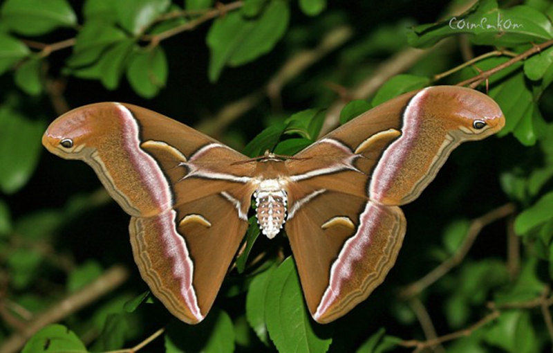
[[[536,332],[526,310],[503,312],[487,332],[486,341],[507,352],[540,352]]]

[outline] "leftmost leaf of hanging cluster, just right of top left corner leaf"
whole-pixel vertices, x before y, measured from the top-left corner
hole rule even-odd
[[[93,64],[109,46],[125,38],[122,30],[102,20],[86,21],[77,34],[73,55],[67,63],[73,67]]]

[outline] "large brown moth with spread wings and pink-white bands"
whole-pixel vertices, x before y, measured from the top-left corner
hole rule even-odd
[[[191,127],[134,105],[69,111],[42,143],[95,170],[131,215],[140,274],[185,323],[207,315],[248,226],[254,200],[267,237],[290,239],[312,317],[344,316],[382,283],[416,199],[451,151],[505,125],[485,94],[427,87],[375,107],[292,158],[250,159]]]

